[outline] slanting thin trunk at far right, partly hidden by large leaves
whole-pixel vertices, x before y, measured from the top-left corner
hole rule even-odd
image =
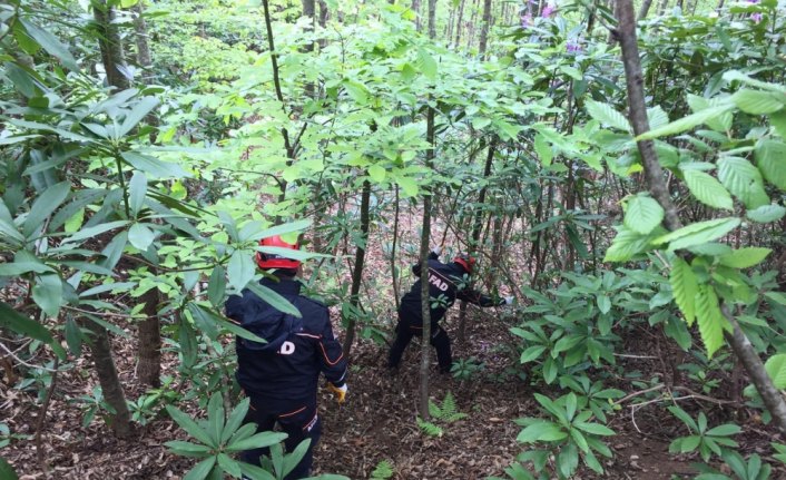
[[[628,102],[630,119],[633,125],[633,133],[638,136],[649,131],[649,121],[647,119],[647,106],[645,104],[643,80],[641,74],[641,62],[639,59],[639,49],[636,43],[636,18],[633,16],[633,4],[631,0],[619,0],[617,8],[619,21],[619,41],[622,47],[622,63],[625,66],[625,75],[628,87]],[[666,210],[664,222],[669,231],[676,231],[681,227],[677,208],[671,203],[671,197],[664,180],[664,173],[658,163],[658,155],[655,151],[652,140],[640,140],[637,143],[639,153],[645,167],[645,176],[649,185],[650,194]],[[724,316],[731,324],[733,333],[726,333],[726,340],[731,345],[737,357],[743,362],[745,371],[748,373],[751,382],[756,386],[764,404],[773,415],[778,429],[786,433],[786,402],[780,395],[780,392],[775,389],[769,374],[764,369],[762,359],[754,350],[753,344],[739,327],[737,319],[735,319],[721,305]]]

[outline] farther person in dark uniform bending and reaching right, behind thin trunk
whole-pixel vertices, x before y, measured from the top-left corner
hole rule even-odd
[[[492,298],[469,287],[469,276],[472,275],[475,259],[469,255],[460,254],[451,263],[439,261],[441,249],[434,248],[429,254],[429,296],[431,302],[431,345],[436,350],[436,361],[441,373],[449,373],[453,359],[450,349],[450,337],[440,326],[439,322],[455,300],[463,300],[479,306],[498,306],[510,304],[512,296]],[[412,265],[412,273],[419,280],[412,288],[401,298],[399,307],[399,323],[395,327],[395,340],[391,346],[387,368],[399,368],[401,356],[406,345],[415,335],[423,335],[423,314],[421,306],[421,264]]]

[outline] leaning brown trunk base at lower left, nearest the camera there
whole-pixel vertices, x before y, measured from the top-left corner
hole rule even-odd
[[[92,363],[96,366],[98,381],[101,384],[104,400],[115,409],[115,413],[107,413],[111,419],[110,427],[118,439],[127,439],[131,434],[131,421],[126,404],[126,396],[122,393],[122,385],[117,375],[115,360],[111,356],[111,345],[107,330],[91,320],[83,320],[83,326],[92,332],[90,351]]]

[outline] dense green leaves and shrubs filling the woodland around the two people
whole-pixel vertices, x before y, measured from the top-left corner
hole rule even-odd
[[[92,14],[106,3],[117,10],[128,89],[108,85],[102,70]],[[252,287],[293,311],[257,284],[248,261],[257,241],[305,233],[313,253],[302,258],[316,264],[308,288],[379,340],[390,330],[391,280],[406,275],[396,248],[416,249],[396,245],[394,225],[423,195],[453,248],[484,259],[481,282],[519,285],[519,307],[504,319],[514,352],[504,375],[540,392],[542,412],[515,420],[518,440],[532,449],[510,478],[602,473],[597,455],[612,455],[605,438],[615,434],[602,423],[627,400],[623,390],[648,391],[642,401],[665,394],[667,379],[617,360],[646,329],[687,352],[674,366],[691,388],[719,395],[735,363],[724,336],[733,316],[786,389],[783,1],[677,9],[639,23],[651,130],[638,139],[655,140],[668,173],[684,222],[671,232],[643,183],[619,48],[601,28],[616,20],[599,2],[517,12],[512,25],[494,26],[485,58],[429,39],[402,2],[327,1],[325,27],[301,18],[299,3],[273,3],[274,52],[253,1],[145,4],[147,33],[132,28],[132,1],[0,6],[0,329],[23,344],[22,360],[52,359],[22,365],[16,389],[43,402],[52,370],[80,368],[96,329],[128,336],[153,312],[179,360],[169,373],[188,381],[175,389],[165,376],[128,399],[132,421],[155,422],[166,410],[202,442],[170,444],[204,459],[191,478],[237,478],[245,467],[227,453],[278,438],[252,437],[239,425],[247,402],[227,417],[213,395],[236,400],[235,359],[222,340],[250,335],[220,308]],[[442,8],[438,28],[448,29]],[[149,40],[150,65],[138,61],[139,37]],[[364,184],[391,272],[365,273],[357,306],[343,273],[346,257],[369,246]],[[459,380],[484,374],[470,360],[454,365]],[[92,392],[72,399],[86,424],[118,413],[100,386]],[[746,396],[768,419],[755,389]],[[208,419],[199,424],[173,406],[184,401]],[[438,420],[463,414],[452,395],[432,405]],[[669,410],[689,430],[674,452],[715,457],[739,478],[770,474],[759,457],[746,463],[733,450],[739,427]],[[0,442],[19,440],[2,427]],[[273,452],[266,471],[247,474],[285,474],[292,458]],[[394,470],[382,467],[379,478]],[[703,478],[725,478],[703,468]]]

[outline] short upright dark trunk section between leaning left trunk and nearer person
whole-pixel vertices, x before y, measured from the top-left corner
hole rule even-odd
[[[150,385],[161,384],[161,329],[158,320],[158,288],[150,288],[139,298],[145,303],[143,312],[147,316],[139,322],[139,381]]]

